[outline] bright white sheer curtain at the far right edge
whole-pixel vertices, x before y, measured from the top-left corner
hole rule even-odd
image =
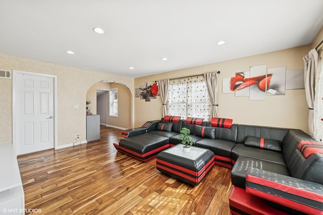
[[[315,99],[314,99],[314,137],[323,140],[323,49],[318,50],[318,63],[315,83]]]

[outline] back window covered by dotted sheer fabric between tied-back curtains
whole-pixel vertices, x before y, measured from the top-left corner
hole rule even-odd
[[[204,76],[172,79],[169,83],[168,114],[208,120],[209,98]]]

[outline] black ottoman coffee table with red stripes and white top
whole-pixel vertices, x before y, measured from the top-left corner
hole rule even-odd
[[[156,168],[173,178],[192,186],[198,185],[214,166],[214,153],[208,149],[191,147],[191,152],[183,152],[178,144],[157,155]]]

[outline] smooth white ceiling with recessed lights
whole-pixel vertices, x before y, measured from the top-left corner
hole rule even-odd
[[[322,27],[322,0],[0,0],[0,53],[134,78],[307,45]]]

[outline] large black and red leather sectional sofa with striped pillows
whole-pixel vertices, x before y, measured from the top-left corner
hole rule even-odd
[[[299,129],[232,124],[231,119],[165,116],[122,132],[119,152],[147,162],[180,144],[182,127],[193,146],[231,169],[232,214],[323,214],[323,144]]]

